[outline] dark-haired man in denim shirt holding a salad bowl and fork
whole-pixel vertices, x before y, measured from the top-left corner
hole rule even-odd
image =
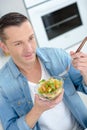
[[[11,56],[0,70],[0,118],[5,130],[84,130],[87,109],[77,90],[87,93],[87,55],[62,49],[38,48],[29,20],[9,13],[0,20],[0,38]],[[79,62],[80,61],[80,62]],[[35,94],[41,79],[64,75],[64,90],[54,100]],[[84,64],[84,66],[83,66]],[[84,68],[84,69],[83,69]],[[81,73],[80,73],[81,72]]]

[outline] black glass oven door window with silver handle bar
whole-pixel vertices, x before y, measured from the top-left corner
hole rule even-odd
[[[42,21],[49,40],[82,25],[76,2],[42,16]]]

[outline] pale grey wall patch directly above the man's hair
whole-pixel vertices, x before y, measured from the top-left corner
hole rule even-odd
[[[27,16],[23,0],[0,0],[0,17],[14,11]]]

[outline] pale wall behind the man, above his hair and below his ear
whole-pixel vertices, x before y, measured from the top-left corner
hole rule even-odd
[[[19,12],[28,16],[24,0],[0,0],[0,17],[9,12]],[[0,49],[0,68],[7,60],[8,57],[5,57]]]

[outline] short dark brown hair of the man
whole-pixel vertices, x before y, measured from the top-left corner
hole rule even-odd
[[[23,14],[17,12],[11,12],[5,14],[0,18],[0,39],[5,42],[6,36],[4,34],[4,29],[10,26],[20,26],[23,22],[27,21],[28,18]]]

